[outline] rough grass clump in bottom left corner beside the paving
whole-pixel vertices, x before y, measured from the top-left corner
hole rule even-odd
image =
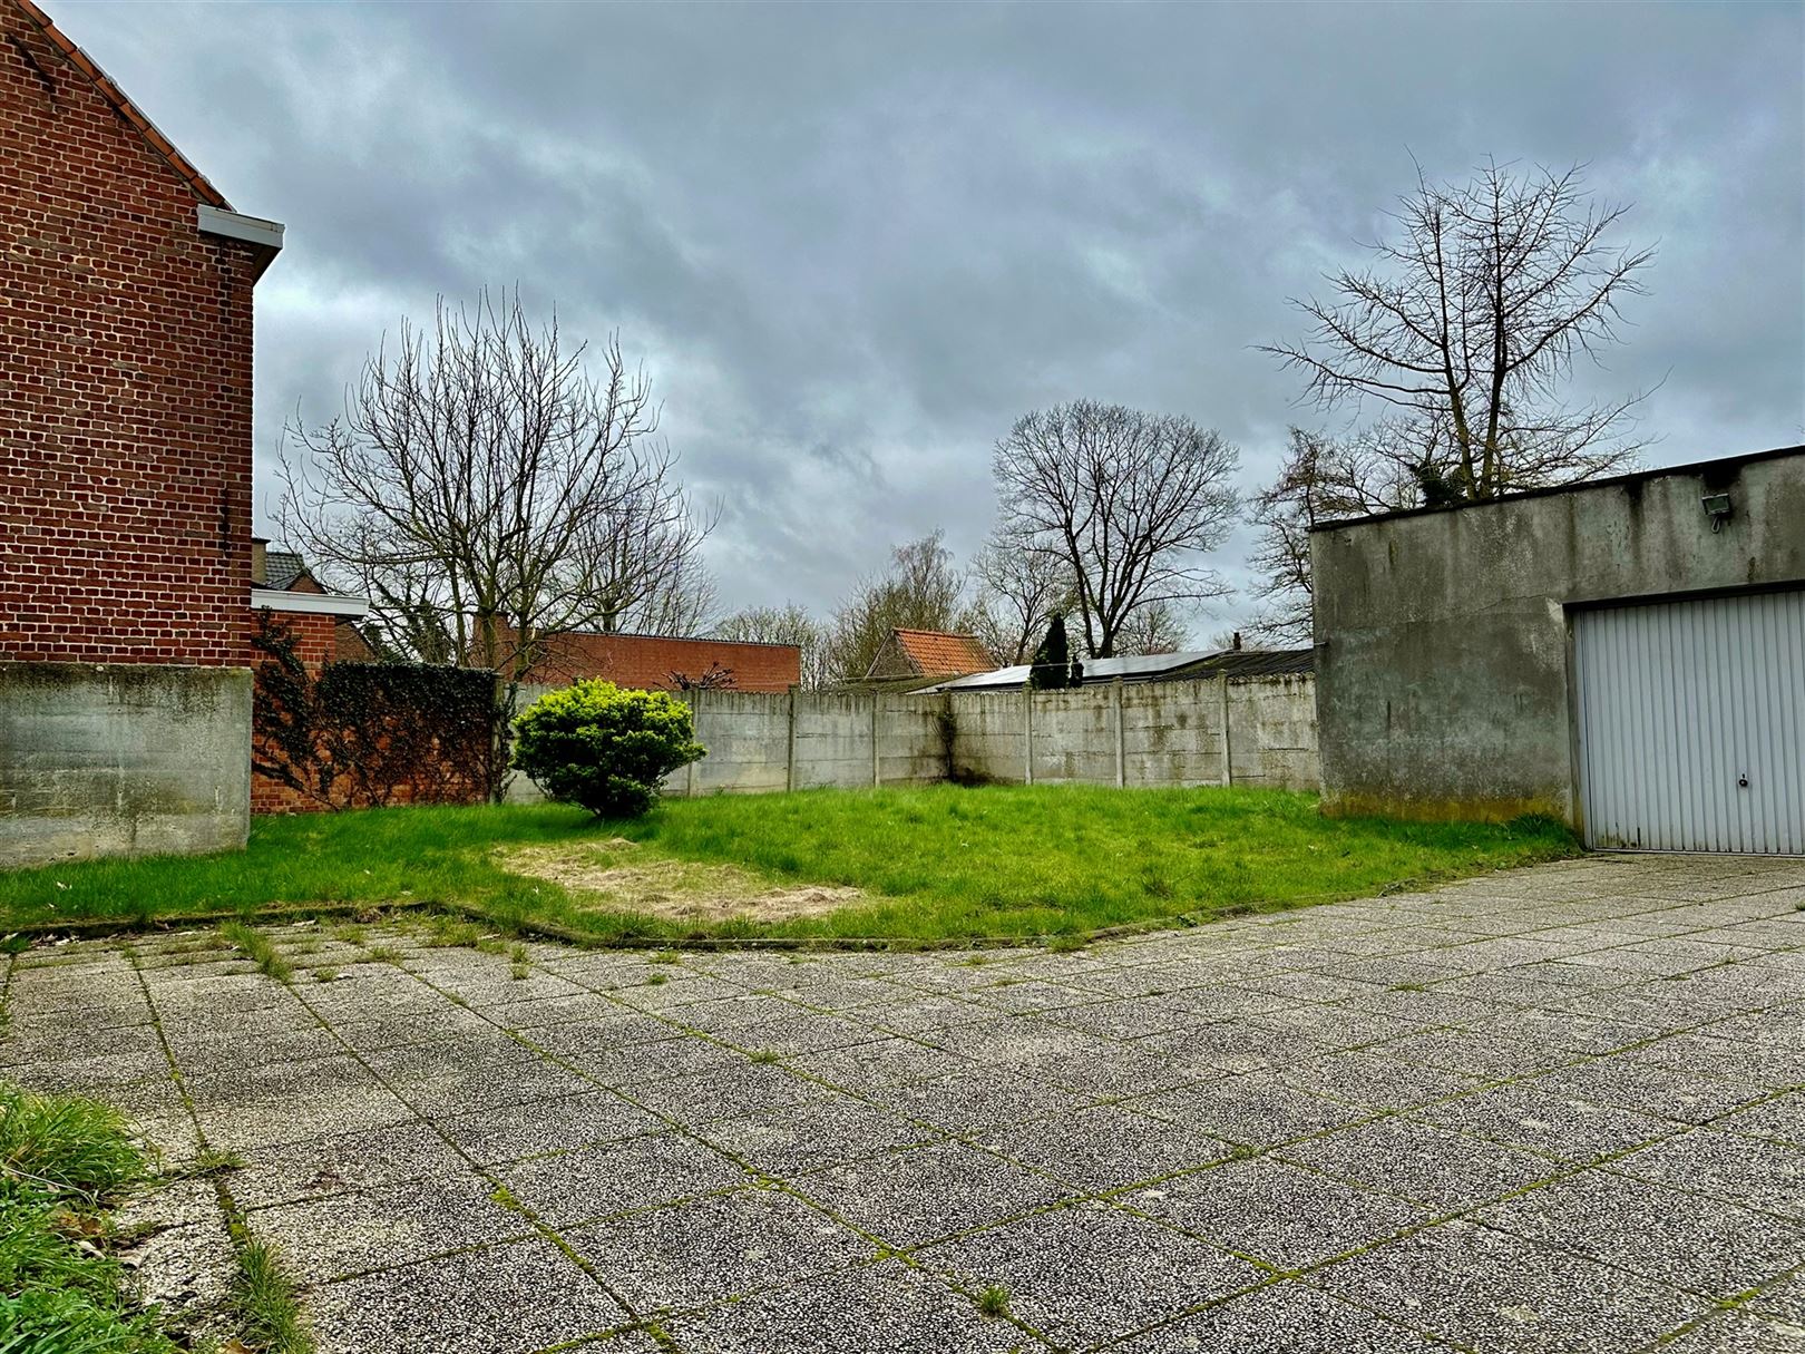
[[[175,1354],[108,1255],[108,1206],[144,1177],[116,1110],[0,1085],[0,1349]]]

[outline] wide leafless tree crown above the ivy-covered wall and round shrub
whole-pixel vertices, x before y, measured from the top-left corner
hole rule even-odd
[[[592,354],[556,316],[534,327],[518,292],[440,301],[368,357],[343,417],[289,426],[278,520],[372,599],[393,652],[514,681],[549,634],[706,596],[709,524],[655,430],[617,341]]]

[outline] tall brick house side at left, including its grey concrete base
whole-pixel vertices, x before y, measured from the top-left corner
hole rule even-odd
[[[242,843],[282,226],[31,0],[0,0],[0,865]]]

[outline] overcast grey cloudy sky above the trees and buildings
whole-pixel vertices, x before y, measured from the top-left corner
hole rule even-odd
[[[1634,204],[1650,294],[1583,381],[1664,381],[1652,464],[1805,441],[1800,4],[47,4],[287,222],[260,507],[384,329],[516,280],[644,359],[731,607],[825,610],[935,525],[967,556],[991,444],[1063,399],[1215,426],[1251,487],[1321,421],[1251,345],[1412,155],[1587,161]]]

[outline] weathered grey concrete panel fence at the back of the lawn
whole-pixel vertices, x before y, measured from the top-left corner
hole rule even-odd
[[[522,708],[543,690],[551,688],[522,688]],[[1236,785],[1312,791],[1321,780],[1310,677],[1097,684],[1040,691],[1032,708],[1025,691],[693,691],[688,700],[708,756],[666,782],[664,793],[677,798],[930,785],[948,773],[946,717],[962,776],[1038,785],[1222,785],[1227,746]],[[516,774],[511,798],[534,800],[538,791]]]

